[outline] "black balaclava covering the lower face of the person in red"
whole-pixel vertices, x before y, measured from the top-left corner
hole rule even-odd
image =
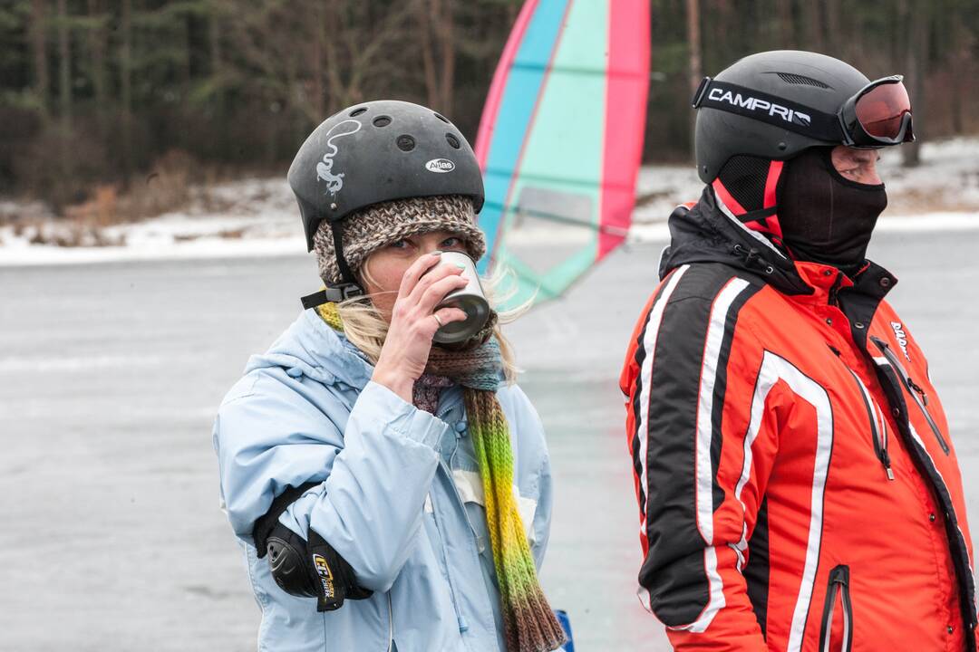
[[[793,258],[832,265],[853,276],[887,207],[884,184],[841,175],[832,148],[813,148],[786,162],[778,189],[778,220]]]

